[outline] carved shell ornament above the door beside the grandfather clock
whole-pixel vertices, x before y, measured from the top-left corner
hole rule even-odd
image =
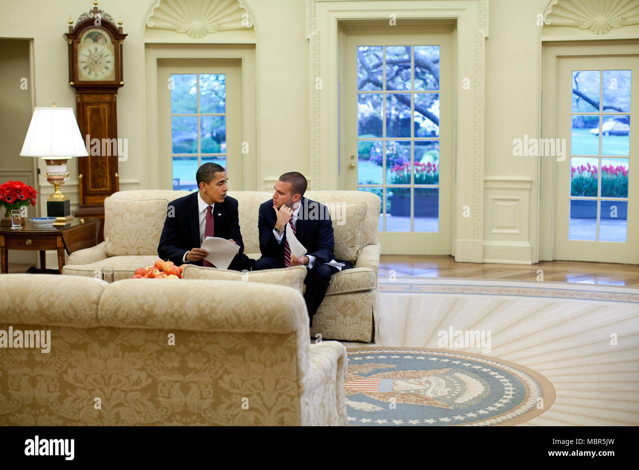
[[[146,26],[199,39],[217,31],[252,27],[253,22],[238,0],[158,0]]]

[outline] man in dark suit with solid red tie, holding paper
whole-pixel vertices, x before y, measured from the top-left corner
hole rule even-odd
[[[251,260],[243,254],[238,218],[238,201],[226,196],[229,190],[226,170],[217,163],[197,169],[198,191],[169,203],[158,245],[158,255],[176,265],[194,263],[212,267],[201,249],[205,237],[227,239],[240,246],[228,269],[250,270]]]

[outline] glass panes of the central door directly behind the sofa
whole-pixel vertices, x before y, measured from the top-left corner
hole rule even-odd
[[[357,47],[357,189],[380,231],[439,231],[440,46]]]

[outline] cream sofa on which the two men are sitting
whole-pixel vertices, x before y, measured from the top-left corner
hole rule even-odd
[[[104,242],[72,253],[63,274],[95,276],[102,267],[112,267],[116,280],[127,279],[135,269],[153,264],[158,259],[167,203],[187,194],[164,190],[112,194],[104,203]],[[258,208],[272,193],[228,194],[238,200],[244,253],[258,259]],[[307,191],[305,197],[327,204],[333,220],[335,256],[355,267],[332,277],[313,317],[311,334],[332,340],[374,341],[379,331],[380,198],[366,191]]]

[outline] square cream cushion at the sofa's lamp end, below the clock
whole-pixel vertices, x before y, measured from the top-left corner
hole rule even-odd
[[[166,199],[104,200],[107,256],[155,255],[166,219]],[[157,259],[157,258],[156,258]]]

